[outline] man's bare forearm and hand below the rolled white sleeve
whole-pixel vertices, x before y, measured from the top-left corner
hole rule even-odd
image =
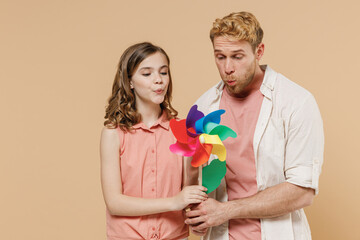
[[[273,218],[312,204],[315,191],[292,183],[284,182],[270,187],[251,197],[218,202],[208,199],[186,213],[185,223],[193,226],[193,230],[220,225],[235,218]]]

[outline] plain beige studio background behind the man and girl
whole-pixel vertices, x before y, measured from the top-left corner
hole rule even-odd
[[[360,239],[359,4],[356,1],[0,1],[0,239],[105,239],[99,134],[130,44],[170,55],[184,117],[219,81],[212,21],[247,10],[262,63],[310,90],[324,119],[314,239]],[[195,239],[195,238],[192,238]]]

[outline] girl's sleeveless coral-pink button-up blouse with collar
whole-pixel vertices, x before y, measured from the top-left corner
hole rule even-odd
[[[144,123],[120,135],[120,169],[123,194],[141,198],[166,198],[181,191],[183,161],[170,152],[176,142],[165,113],[148,128]],[[141,217],[113,216],[107,211],[108,240],[182,239],[189,235],[182,211]]]

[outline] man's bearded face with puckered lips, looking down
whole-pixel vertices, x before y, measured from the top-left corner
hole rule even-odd
[[[258,64],[250,43],[218,36],[214,38],[214,55],[228,93],[241,95],[252,82]]]

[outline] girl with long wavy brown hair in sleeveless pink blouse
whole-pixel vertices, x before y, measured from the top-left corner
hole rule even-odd
[[[177,116],[169,63],[147,42],[120,58],[100,144],[108,240],[186,238],[182,209],[207,197],[205,187],[185,186],[185,164],[169,150]]]

